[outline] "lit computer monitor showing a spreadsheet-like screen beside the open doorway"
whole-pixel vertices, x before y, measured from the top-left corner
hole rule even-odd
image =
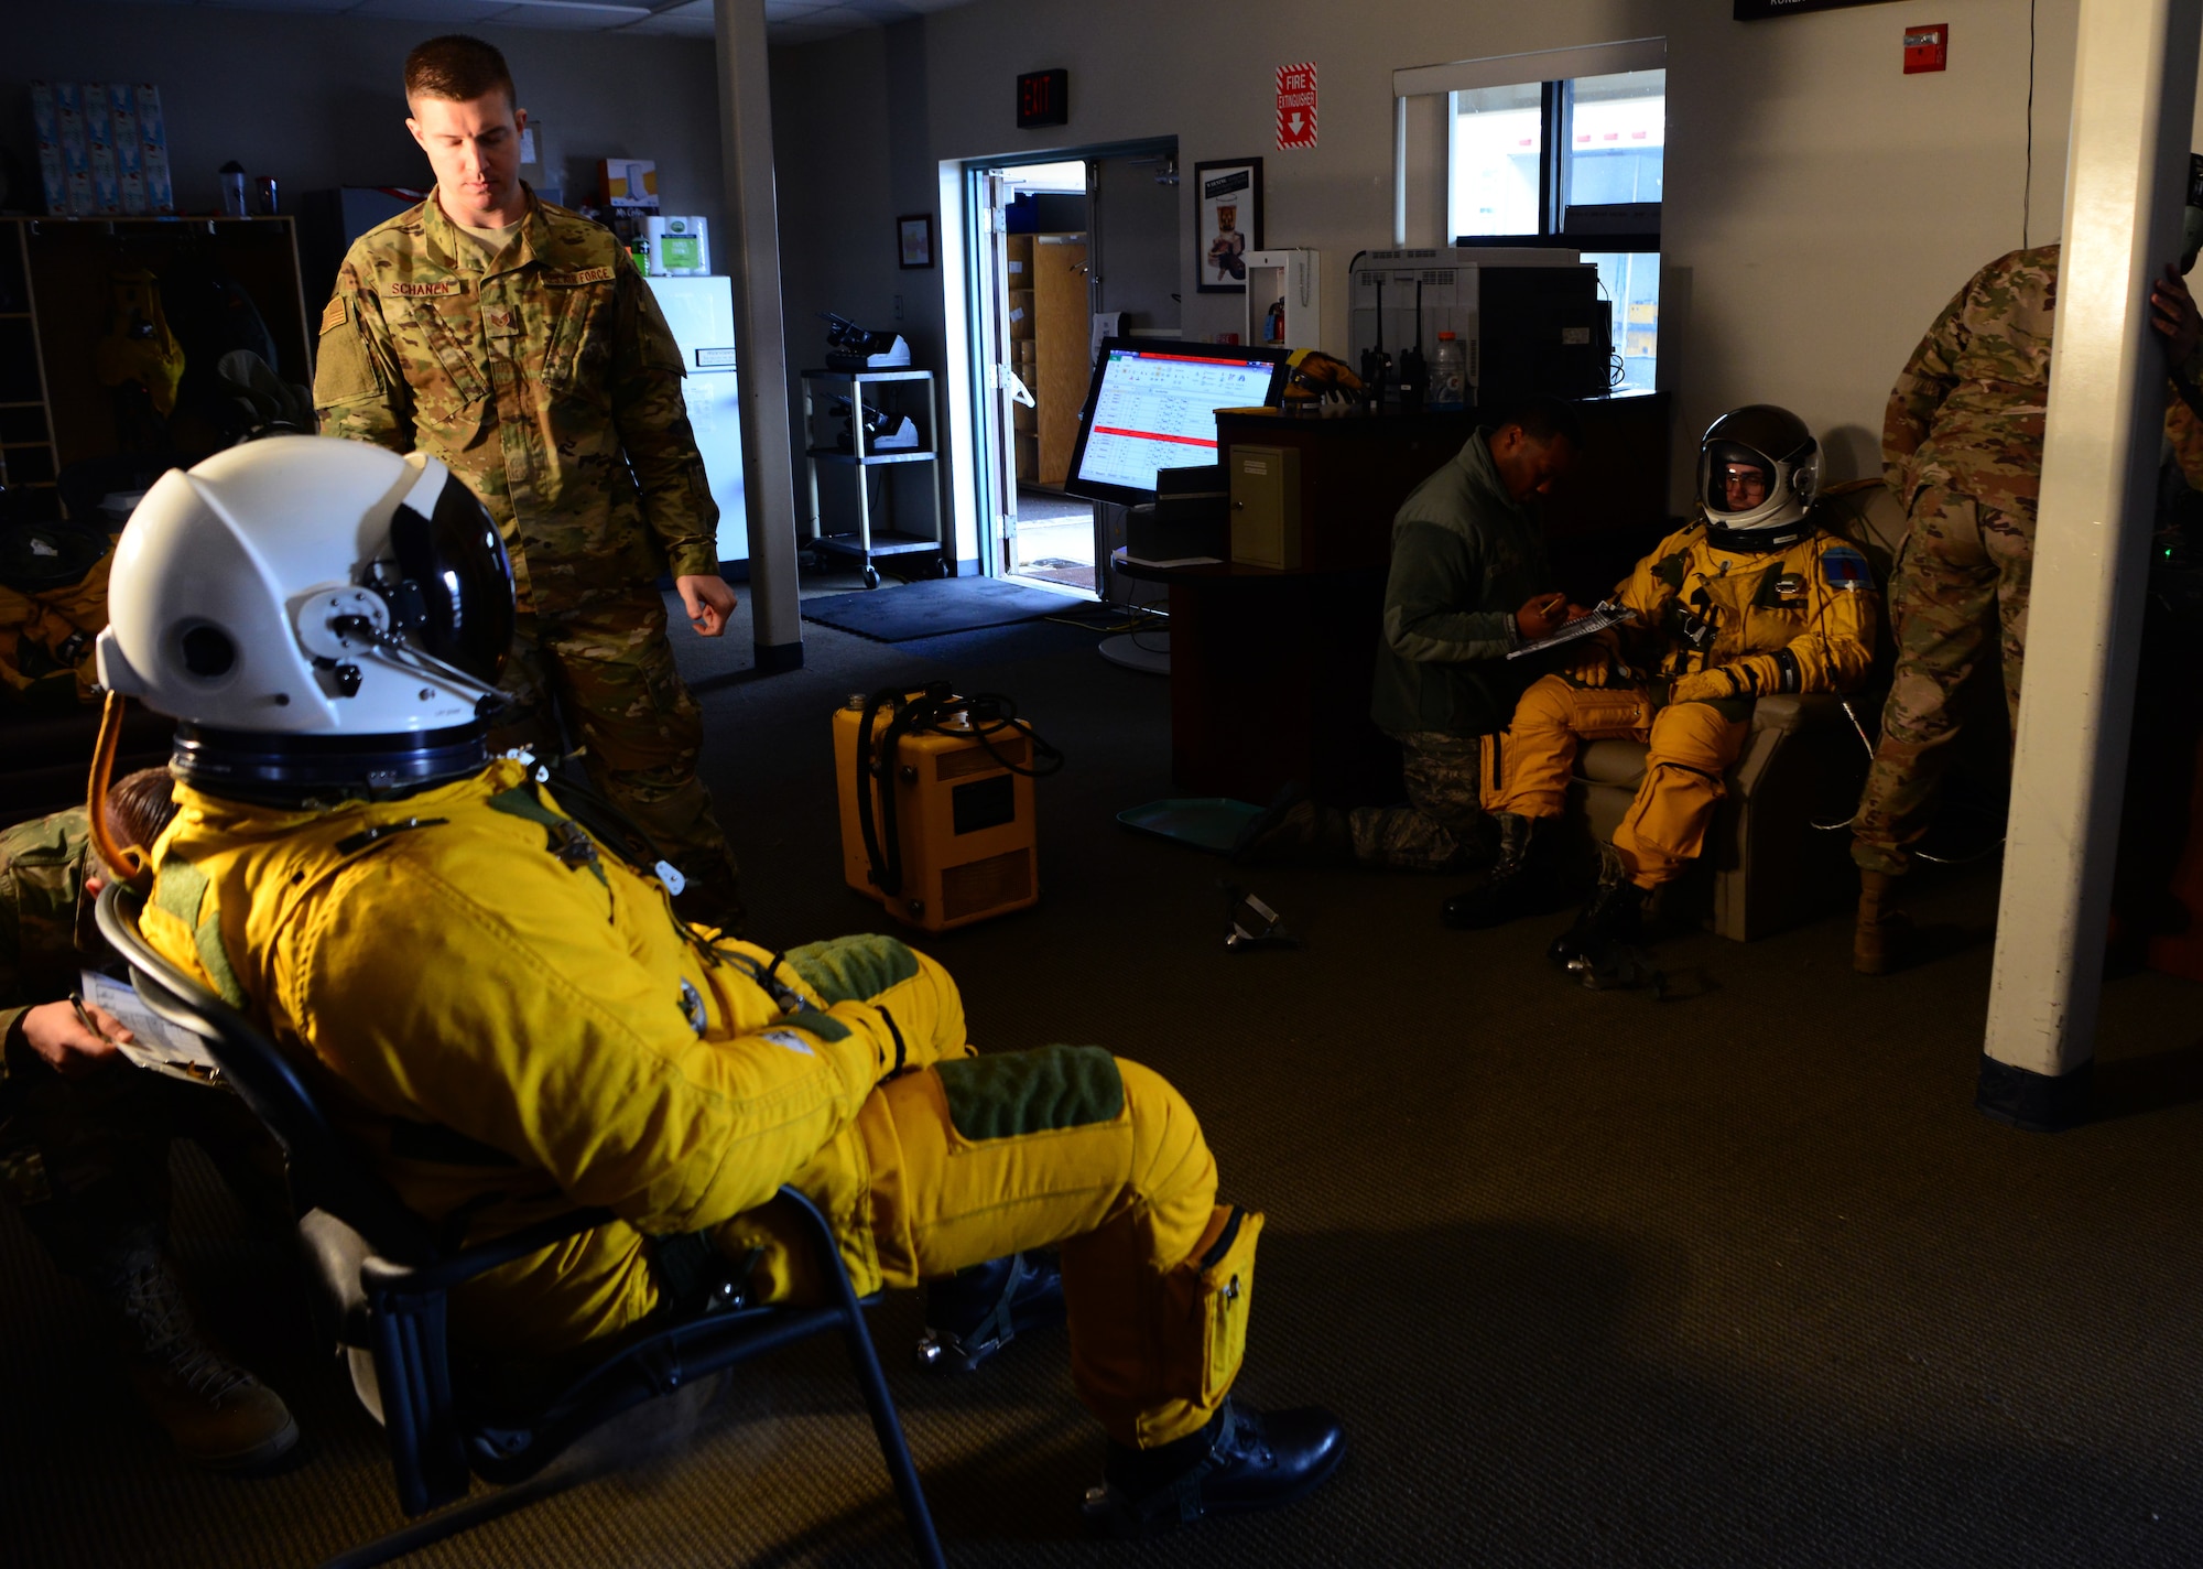
[[[1216,410],[1276,403],[1284,355],[1238,344],[1104,339],[1064,489],[1137,507],[1154,500],[1157,469],[1216,463]]]

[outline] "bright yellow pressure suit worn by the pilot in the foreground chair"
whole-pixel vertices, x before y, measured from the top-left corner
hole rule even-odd
[[[148,939],[315,1071],[412,1210],[465,1241],[619,1216],[467,1287],[463,1335],[617,1333],[698,1234],[800,1298],[771,1205],[793,1183],[859,1291],[1062,1243],[1073,1377],[1119,1443],[1179,1439],[1229,1391],[1262,1216],[1216,1205],[1152,1071],[972,1056],[956,985],[892,939],[773,954],[685,928],[518,762],[333,811],[178,800]]]

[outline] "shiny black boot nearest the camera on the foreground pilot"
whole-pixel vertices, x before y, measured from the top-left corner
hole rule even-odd
[[[1322,1406],[1260,1413],[1227,1399],[1201,1432],[1152,1450],[1108,1446],[1086,1490],[1097,1536],[1161,1536],[1212,1514],[1254,1514],[1304,1498],[1346,1459],[1346,1430]]]

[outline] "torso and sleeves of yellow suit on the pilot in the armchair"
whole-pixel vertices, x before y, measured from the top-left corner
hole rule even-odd
[[[1866,558],[1837,535],[1732,551],[1703,518],[1637,562],[1615,599],[1637,613],[1628,639],[1659,674],[1723,670],[1734,696],[1857,688],[1881,621]]]

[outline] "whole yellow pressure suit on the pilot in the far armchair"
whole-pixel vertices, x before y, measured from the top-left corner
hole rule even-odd
[[[1615,599],[1637,613],[1624,648],[1650,668],[1624,670],[1599,652],[1533,683],[1485,749],[1483,798],[1485,811],[1558,818],[1577,743],[1646,743],[1646,778],[1615,829],[1615,853],[1630,881],[1659,888],[1705,844],[1751,703],[1855,688],[1875,657],[1881,604],[1866,558],[1835,535],[1738,551],[1710,540],[1703,520],[1661,540]]]

